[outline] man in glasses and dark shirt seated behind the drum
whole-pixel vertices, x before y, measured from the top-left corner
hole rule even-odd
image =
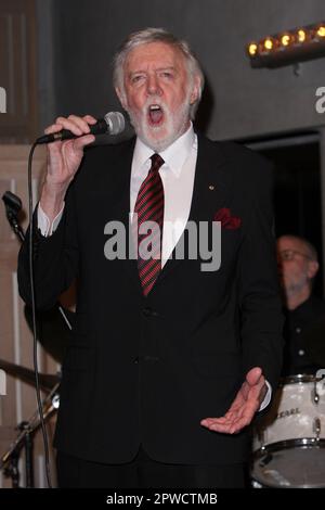
[[[282,235],[277,260],[286,308],[283,375],[314,373],[322,362],[318,349],[323,357],[325,352],[325,303],[312,293],[317,252],[303,238]]]

